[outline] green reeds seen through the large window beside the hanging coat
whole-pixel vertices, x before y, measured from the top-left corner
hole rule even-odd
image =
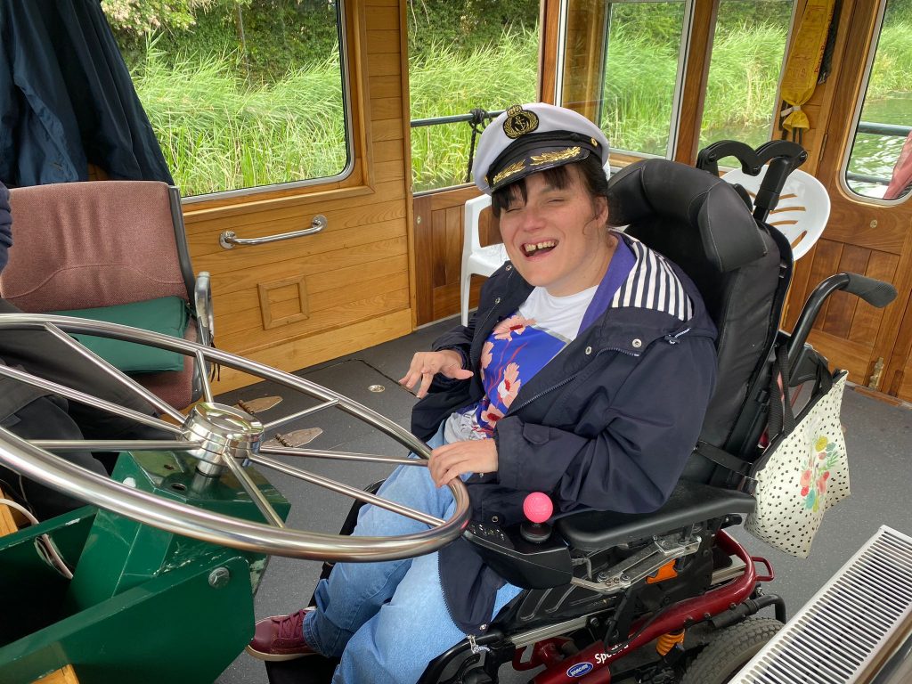
[[[236,56],[171,57],[154,44],[133,73],[185,196],[331,176],[346,165],[337,59],[248,85]]]

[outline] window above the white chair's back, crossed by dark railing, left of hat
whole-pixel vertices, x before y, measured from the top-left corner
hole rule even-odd
[[[539,0],[409,0],[412,121],[534,102],[539,8]],[[466,182],[471,140],[466,120],[413,126],[414,192]]]

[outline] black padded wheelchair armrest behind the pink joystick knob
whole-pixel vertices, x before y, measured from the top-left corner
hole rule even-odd
[[[572,548],[600,551],[712,518],[747,515],[754,504],[750,494],[682,480],[653,513],[582,511],[559,518],[554,527]]]

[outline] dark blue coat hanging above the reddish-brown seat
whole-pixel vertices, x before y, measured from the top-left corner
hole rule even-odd
[[[0,3],[0,181],[173,183],[98,0]]]

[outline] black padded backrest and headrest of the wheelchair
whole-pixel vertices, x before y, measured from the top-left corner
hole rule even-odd
[[[788,243],[751,216],[729,183],[674,161],[639,161],[617,172],[609,202],[613,225],[626,225],[700,289],[719,329],[716,389],[700,440],[752,460],[792,272]],[[715,470],[695,452],[683,477],[710,482]]]

